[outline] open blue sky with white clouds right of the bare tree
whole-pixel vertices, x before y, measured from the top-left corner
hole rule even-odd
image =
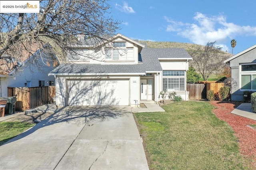
[[[132,39],[206,45],[233,54],[256,44],[256,0],[110,0],[109,12]]]

